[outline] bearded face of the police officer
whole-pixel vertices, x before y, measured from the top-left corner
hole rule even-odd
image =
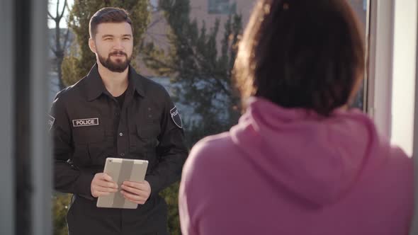
[[[98,61],[110,71],[123,72],[132,57],[133,38],[129,23],[100,23],[90,45]]]

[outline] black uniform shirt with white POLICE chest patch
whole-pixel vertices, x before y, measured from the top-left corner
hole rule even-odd
[[[94,200],[91,180],[107,157],[149,161],[151,195],[179,180],[187,156],[182,123],[165,88],[129,67],[125,100],[106,90],[97,65],[57,93],[50,111],[55,189]]]

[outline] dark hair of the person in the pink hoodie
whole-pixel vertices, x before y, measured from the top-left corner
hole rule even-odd
[[[351,101],[364,64],[360,25],[345,0],[261,0],[233,74],[243,99],[327,116]]]

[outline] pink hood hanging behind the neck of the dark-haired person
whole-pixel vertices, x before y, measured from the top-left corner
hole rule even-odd
[[[249,99],[230,134],[271,187],[315,205],[343,197],[379,149],[373,122],[359,110],[322,117],[262,98]]]

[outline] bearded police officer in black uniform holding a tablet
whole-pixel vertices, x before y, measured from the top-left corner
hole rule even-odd
[[[158,193],[179,180],[187,150],[169,94],[130,67],[132,22],[120,8],[90,20],[97,62],[87,76],[57,93],[50,112],[55,188],[72,193],[69,234],[167,234],[167,207]],[[107,157],[149,161],[144,182],[117,185],[103,173]],[[136,210],[96,207],[121,193]]]

